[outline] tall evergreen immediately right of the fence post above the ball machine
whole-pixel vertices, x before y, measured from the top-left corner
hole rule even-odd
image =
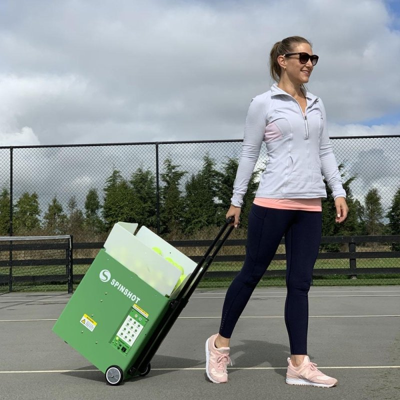
[[[187,173],[180,165],[172,164],[170,157],[164,160],[160,188],[160,231],[161,233],[183,230],[184,200],[179,188],[181,178]]]

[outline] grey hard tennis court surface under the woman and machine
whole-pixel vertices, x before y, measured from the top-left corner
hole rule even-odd
[[[400,286],[312,287],[308,352],[338,379],[333,388],[284,383],[289,355],[284,288],[257,288],[231,340],[229,380],[210,383],[204,343],[216,332],[225,290],[197,289],[151,361],[151,371],[119,386],[51,328],[70,295],[0,296],[3,400],[208,400],[400,398]]]

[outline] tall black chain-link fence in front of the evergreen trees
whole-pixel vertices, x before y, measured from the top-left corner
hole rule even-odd
[[[388,216],[400,189],[397,161],[400,135],[335,137],[331,142],[336,159],[342,164],[343,180],[349,182],[351,197],[355,201],[350,212],[357,213],[357,228],[347,235],[400,233],[392,231]],[[73,234],[77,245],[74,265],[78,275],[83,274],[88,266],[79,265],[79,259],[89,261],[95,256],[97,247],[104,242],[112,222],[116,220],[140,219],[138,222],[167,240],[211,239],[218,221],[223,218],[230,193],[222,188],[219,192],[205,193],[212,202],[207,205],[207,199],[199,199],[199,192],[195,192],[193,186],[201,185],[201,178],[211,169],[214,174],[208,178],[211,176],[215,181],[223,182],[223,176],[227,175],[226,186],[231,192],[234,164],[229,162],[237,160],[240,151],[241,140],[0,147],[0,235]],[[262,147],[256,168],[263,168],[265,161],[266,151]],[[170,193],[165,189],[168,185],[178,191],[175,197],[168,198]],[[176,215],[168,203],[174,198],[179,200],[174,205],[182,208],[182,212]],[[119,204],[120,199],[125,203]],[[199,200],[200,205],[193,212],[190,204],[194,204],[194,200]],[[201,201],[204,209],[200,210]],[[370,202],[377,203],[372,230],[368,220]],[[212,222],[201,225],[197,221],[199,225],[193,224],[187,229],[197,214],[199,219],[208,218],[210,212],[207,214],[206,211],[213,213]],[[232,239],[245,239],[245,227],[234,231]],[[97,244],[79,247],[80,242]],[[396,268],[400,264],[400,256],[397,258],[395,252],[398,248],[391,242],[368,243],[365,239],[357,242],[356,246],[356,251],[366,251],[371,255],[360,261],[362,267]],[[201,247],[182,247],[182,250],[190,256],[197,256]],[[348,243],[336,243],[337,250],[351,251]],[[284,249],[279,248],[278,252],[283,253]],[[325,249],[322,248],[321,252]],[[382,252],[391,252],[391,256],[383,256]],[[222,249],[222,255],[242,256],[243,253],[244,244]],[[380,256],[375,257],[374,253]],[[277,259],[269,270],[284,269],[283,264],[284,260]],[[316,268],[348,268],[348,265],[349,257],[320,259]],[[232,271],[240,266],[240,260],[220,261],[211,267],[211,271]],[[375,273],[368,282],[398,283],[399,276],[398,273]],[[336,283],[333,277],[338,279]],[[324,284],[361,281],[360,275],[357,279],[349,277],[348,274],[343,274],[340,279],[326,275],[321,281]],[[218,279],[224,281],[223,277],[213,277],[214,283]],[[283,284],[282,279],[280,276],[266,276],[271,284]],[[314,284],[317,280],[316,276]]]

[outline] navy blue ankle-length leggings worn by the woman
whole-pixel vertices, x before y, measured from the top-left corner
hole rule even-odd
[[[321,212],[318,211],[267,208],[252,204],[248,215],[244,264],[226,292],[219,334],[230,338],[283,235],[287,287],[284,320],[290,353],[307,354],[308,290],[321,238]]]

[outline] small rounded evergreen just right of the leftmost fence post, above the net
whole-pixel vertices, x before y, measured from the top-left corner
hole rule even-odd
[[[40,228],[40,208],[37,194],[23,193],[13,210],[13,233],[34,235]]]

